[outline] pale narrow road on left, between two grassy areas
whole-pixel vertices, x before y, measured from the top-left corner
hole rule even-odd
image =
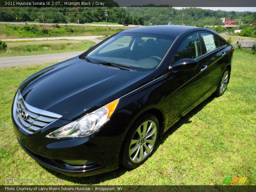
[[[41,37],[41,38],[21,38],[21,39],[1,39],[2,41],[43,41],[43,40],[60,40],[60,39],[74,39],[74,40],[89,40],[95,43],[100,43],[102,40],[96,39],[102,36],[71,36],[71,37]]]

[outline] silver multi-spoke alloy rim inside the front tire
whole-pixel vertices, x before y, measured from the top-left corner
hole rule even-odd
[[[129,156],[133,163],[140,163],[151,153],[156,143],[156,136],[157,127],[154,121],[148,120],[140,124],[129,148]]]

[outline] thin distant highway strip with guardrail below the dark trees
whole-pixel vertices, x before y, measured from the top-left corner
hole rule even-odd
[[[0,23],[10,23],[10,24],[28,24],[28,25],[56,25],[56,23],[24,23],[24,22],[0,22]],[[81,26],[106,26],[106,24],[77,24],[77,23],[58,23],[58,25],[81,25]],[[129,25],[126,27],[142,27],[143,25]],[[109,25],[108,27],[124,27],[124,25]]]

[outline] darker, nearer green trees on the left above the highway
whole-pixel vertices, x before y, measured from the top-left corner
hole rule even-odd
[[[39,23],[91,23],[106,21],[106,8],[102,7],[11,7],[0,8],[0,21]],[[108,22],[144,25],[141,16],[131,16],[123,7],[107,8]],[[17,20],[16,20],[17,17]]]

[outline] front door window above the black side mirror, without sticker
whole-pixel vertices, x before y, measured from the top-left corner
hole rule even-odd
[[[177,52],[174,54],[175,61],[188,58],[195,59],[202,55],[199,38],[197,33],[188,36],[181,44]]]

